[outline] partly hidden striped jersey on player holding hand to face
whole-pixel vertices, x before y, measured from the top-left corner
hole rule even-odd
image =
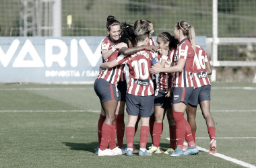
[[[170,65],[173,61],[173,56],[174,56],[175,51],[176,51],[175,48],[170,48],[170,50],[168,50],[168,58],[166,60],[165,67],[170,67]],[[159,62],[162,61],[161,54],[158,54],[158,60],[159,60]],[[157,88],[166,91],[170,87],[172,87],[172,74],[171,73],[159,73]]]

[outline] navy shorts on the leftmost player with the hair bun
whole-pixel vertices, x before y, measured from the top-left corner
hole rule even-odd
[[[119,101],[119,91],[116,85],[109,83],[104,79],[96,79],[94,82],[94,91],[102,103],[116,99]]]

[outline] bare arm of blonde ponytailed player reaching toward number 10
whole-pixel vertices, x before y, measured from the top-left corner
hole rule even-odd
[[[183,68],[185,66],[186,60],[184,58],[179,58],[178,64],[173,67],[168,68],[159,68],[159,67],[152,67],[150,69],[150,73],[156,74],[156,73],[177,73],[183,71]]]

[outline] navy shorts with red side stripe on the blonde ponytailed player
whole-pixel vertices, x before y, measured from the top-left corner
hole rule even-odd
[[[173,87],[172,88],[172,104],[184,102],[186,105],[189,102],[189,97],[193,93],[194,87]]]

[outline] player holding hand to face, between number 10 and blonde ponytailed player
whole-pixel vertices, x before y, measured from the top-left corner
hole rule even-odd
[[[164,56],[167,56],[165,65],[162,67],[170,67],[173,62],[173,56],[177,49],[178,41],[174,39],[168,32],[162,32],[157,37],[157,46],[160,49],[158,54],[158,60],[161,61]],[[163,130],[164,115],[167,111],[169,132],[170,132],[170,146],[165,152],[170,154],[174,152],[176,146],[176,124],[172,117],[172,105],[171,105],[171,88],[172,87],[172,75],[171,73],[160,73],[158,77],[158,85],[155,91],[154,98],[154,128],[153,128],[153,146],[150,146],[148,153],[162,153],[160,151],[160,138]]]

